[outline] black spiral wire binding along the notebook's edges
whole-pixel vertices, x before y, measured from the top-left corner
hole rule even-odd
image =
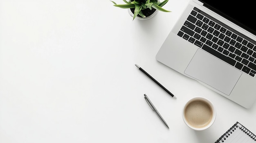
[[[250,132],[245,126],[241,125],[240,123],[236,122],[227,132],[225,132],[215,143],[223,143],[229,136],[232,134],[236,129],[242,130],[248,136],[250,136],[254,141],[256,141],[256,136],[252,132]]]

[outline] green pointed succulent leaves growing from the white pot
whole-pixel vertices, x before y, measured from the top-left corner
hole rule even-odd
[[[110,1],[113,2],[112,0]],[[164,4],[168,2],[168,0],[164,0],[163,2],[158,2],[157,0],[130,0],[130,1],[123,0],[123,1],[126,4],[116,4],[115,2],[113,2],[114,6],[120,7],[122,9],[135,8],[133,20],[136,18],[137,15],[140,15],[141,17],[145,18],[146,16],[141,12],[141,10],[144,10],[144,9],[152,10],[152,8],[154,8],[159,11],[171,12],[162,8]]]

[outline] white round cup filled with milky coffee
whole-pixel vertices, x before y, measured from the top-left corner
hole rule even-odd
[[[186,102],[182,108],[184,123],[193,130],[205,130],[216,119],[216,109],[213,103],[204,97],[194,97]]]

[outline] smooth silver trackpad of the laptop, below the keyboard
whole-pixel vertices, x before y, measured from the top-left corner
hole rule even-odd
[[[185,74],[230,95],[242,72],[198,49],[184,71]]]

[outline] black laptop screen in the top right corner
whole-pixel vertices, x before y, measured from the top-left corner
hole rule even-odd
[[[199,0],[209,7],[212,11],[222,15],[235,24],[243,27],[247,31],[256,35],[256,22],[254,15],[256,7],[254,1],[236,1],[236,0]],[[225,14],[225,15],[223,15]],[[248,16],[251,16],[251,18]]]

